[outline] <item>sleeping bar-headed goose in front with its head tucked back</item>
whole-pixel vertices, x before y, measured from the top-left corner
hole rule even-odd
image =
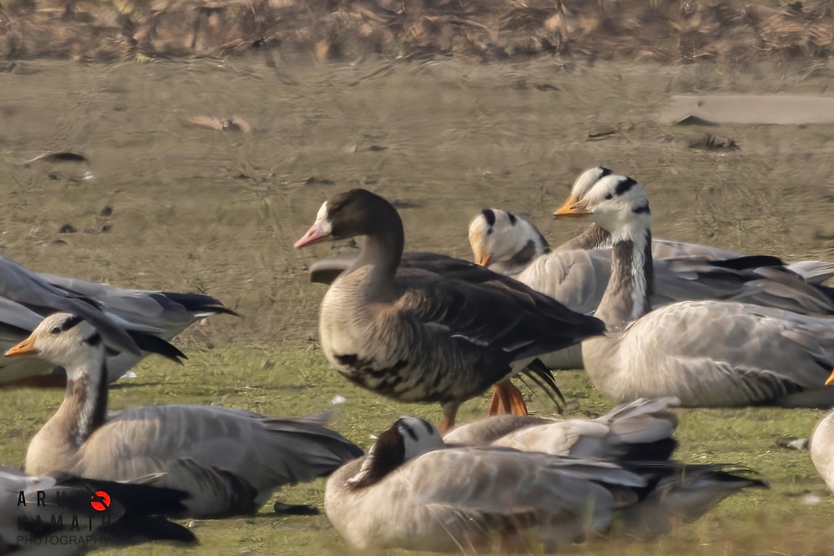
[[[362,550],[545,552],[603,533],[655,536],[759,481],[722,465],[614,463],[510,448],[446,447],[420,418],[399,418],[364,458],[327,482],[324,508]]]

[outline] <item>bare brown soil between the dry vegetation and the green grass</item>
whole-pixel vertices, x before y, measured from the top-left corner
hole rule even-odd
[[[332,248],[291,246],[351,187],[398,203],[407,248],[469,258],[466,227],[487,206],[529,216],[554,243],[570,237],[550,213],[602,163],[646,185],[657,237],[834,257],[834,126],[658,121],[673,94],[826,94],[825,78],[785,68],[447,58],[279,71],[260,56],[25,67],[0,75],[0,249],[38,271],[207,292],[244,315],[189,334],[203,343],[314,337],[323,289],[304,271]],[[189,125],[196,116],[252,129]],[[690,148],[706,133],[740,150]],[[20,165],[64,150],[89,168]],[[77,231],[59,233],[66,224]]]

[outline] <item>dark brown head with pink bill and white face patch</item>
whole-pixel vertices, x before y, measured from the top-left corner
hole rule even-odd
[[[294,247],[385,233],[386,228],[402,233],[402,223],[391,203],[366,189],[351,189],[337,193],[321,205],[315,223]]]

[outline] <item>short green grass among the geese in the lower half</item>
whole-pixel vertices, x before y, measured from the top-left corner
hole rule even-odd
[[[150,358],[136,370],[139,378],[112,389],[111,407],[156,403],[215,403],[274,415],[305,415],[339,408],[333,428],[368,448],[379,433],[402,413],[414,413],[433,422],[440,419],[435,405],[394,403],[354,387],[324,364],[314,343],[284,346],[218,348],[189,353],[183,367]],[[566,415],[594,417],[611,403],[601,398],[585,373],[562,372],[557,382],[568,399]],[[336,395],[346,398],[334,406]],[[58,391],[0,392],[5,408],[0,463],[23,464],[28,439],[38,431],[61,402]],[[485,414],[487,398],[466,403],[460,421]],[[532,394],[530,407],[551,413],[542,395]],[[771,488],[748,489],[721,504],[696,523],[681,524],[670,534],[651,542],[623,536],[596,539],[577,545],[587,554],[825,554],[834,542],[831,493],[811,464],[807,452],[780,448],[780,437],[804,437],[825,414],[809,409],[681,409],[677,458],[690,463],[740,463],[761,473]],[[806,495],[821,502],[803,503]],[[324,480],[304,483],[280,492],[288,503],[314,503],[322,508]],[[187,522],[186,522],[187,523]],[[276,517],[272,502],[248,518],[192,522],[200,545],[178,548],[143,545],[134,554],[342,554],[347,548],[324,515]],[[105,552],[102,552],[105,553]]]

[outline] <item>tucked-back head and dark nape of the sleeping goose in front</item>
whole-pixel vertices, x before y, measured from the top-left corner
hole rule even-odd
[[[348,479],[353,488],[379,482],[409,459],[444,448],[443,438],[434,425],[412,415],[403,415],[379,434],[368,450],[359,473]]]

